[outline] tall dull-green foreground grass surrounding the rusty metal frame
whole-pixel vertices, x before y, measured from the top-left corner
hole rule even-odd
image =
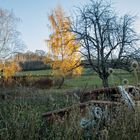
[[[97,120],[97,124],[90,129],[83,129],[80,126],[82,118],[91,119],[90,107],[81,112],[73,108],[68,118],[56,117],[53,123],[42,119],[42,113],[46,108],[49,110],[69,106],[61,99],[54,98],[54,101],[47,101],[52,105],[49,107],[44,99],[37,100],[7,100],[0,103],[0,139],[1,140],[85,140],[100,139],[105,135],[109,140],[138,140],[140,136],[140,110],[129,110],[122,106],[117,111],[110,110],[107,122]],[[56,101],[58,100],[58,101]],[[33,102],[34,101],[34,102]],[[60,102],[61,101],[61,102]],[[39,105],[40,102],[40,105]],[[41,103],[42,102],[42,103]],[[63,102],[63,103],[62,103]],[[54,105],[53,105],[54,104]],[[45,108],[46,106],[46,108]],[[43,109],[44,108],[44,109]],[[47,109],[46,109],[47,111]],[[110,119],[110,116],[111,119]],[[109,122],[108,122],[109,121]],[[103,127],[106,124],[105,127]]]

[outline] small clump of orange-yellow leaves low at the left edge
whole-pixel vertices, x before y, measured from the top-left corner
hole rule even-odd
[[[0,69],[3,71],[2,76],[4,76],[5,79],[10,78],[13,76],[17,71],[20,70],[20,67],[16,64],[16,62],[7,62],[7,63],[1,63]]]

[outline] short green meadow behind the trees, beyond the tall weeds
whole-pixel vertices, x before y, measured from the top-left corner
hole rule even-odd
[[[17,76],[31,75],[32,77],[51,77],[51,70],[40,70],[40,71],[25,71],[16,73]],[[139,75],[138,75],[139,76]],[[134,73],[116,70],[113,75],[109,77],[110,86],[121,85],[123,79],[127,79],[129,84],[135,84],[136,80]],[[102,87],[102,81],[95,72],[92,72],[89,68],[84,69],[82,76],[76,76],[72,78],[66,78],[62,89],[69,89],[73,87],[83,88],[87,87]]]

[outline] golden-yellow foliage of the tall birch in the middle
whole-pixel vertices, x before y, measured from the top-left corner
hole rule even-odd
[[[80,75],[80,44],[76,41],[75,35],[70,32],[70,19],[65,17],[60,7],[55,9],[49,16],[52,27],[48,43],[49,56],[52,60],[54,75]],[[47,60],[49,60],[47,58]]]

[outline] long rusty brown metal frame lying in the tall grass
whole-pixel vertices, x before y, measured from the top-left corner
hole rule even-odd
[[[43,119],[46,121],[53,120],[56,116],[63,118],[64,116],[69,116],[70,112],[74,110],[74,108],[80,108],[81,110],[86,108],[87,106],[93,105],[93,104],[103,104],[103,105],[121,105],[121,102],[117,101],[105,101],[105,100],[96,100],[97,96],[100,94],[106,94],[108,97],[111,97],[113,94],[119,94],[118,89],[116,87],[113,88],[101,88],[96,89],[91,92],[86,92],[83,95],[80,96],[80,102],[79,104],[72,105],[70,107],[66,107],[59,110],[54,110],[50,112],[46,112],[42,114]],[[90,98],[90,99],[88,99]]]

